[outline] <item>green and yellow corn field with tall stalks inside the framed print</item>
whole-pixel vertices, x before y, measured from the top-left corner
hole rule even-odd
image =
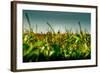
[[[37,33],[29,23],[30,29],[23,32],[23,62],[90,59],[91,35],[82,30],[80,22],[78,24],[79,33],[66,29],[64,33],[55,32],[49,22],[47,25],[52,31]]]

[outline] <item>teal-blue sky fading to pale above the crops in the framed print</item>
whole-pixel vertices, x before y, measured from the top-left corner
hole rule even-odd
[[[36,32],[47,32],[50,30],[46,24],[49,22],[55,32],[65,32],[65,28],[72,32],[79,31],[78,22],[81,23],[83,30],[91,31],[91,14],[90,13],[77,13],[77,12],[57,12],[57,11],[36,11],[36,10],[23,10],[23,26],[29,28],[29,24],[25,13],[28,14],[29,21]]]

